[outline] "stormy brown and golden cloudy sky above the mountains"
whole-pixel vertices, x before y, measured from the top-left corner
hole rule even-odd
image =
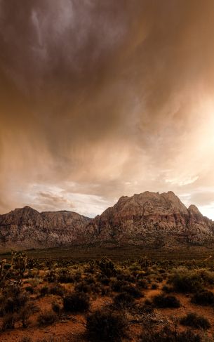
[[[213,0],[0,0],[0,213],[171,190],[214,219],[213,34]]]

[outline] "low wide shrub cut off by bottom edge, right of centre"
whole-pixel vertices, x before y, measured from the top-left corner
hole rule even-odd
[[[140,342],[202,342],[202,338],[191,330],[178,332],[175,329],[163,327],[160,331],[146,329],[140,336]]]

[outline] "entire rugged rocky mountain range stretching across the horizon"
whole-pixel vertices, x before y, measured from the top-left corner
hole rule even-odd
[[[173,192],[123,196],[95,218],[72,211],[39,212],[29,206],[0,215],[0,248],[72,245],[213,246],[214,222]]]

